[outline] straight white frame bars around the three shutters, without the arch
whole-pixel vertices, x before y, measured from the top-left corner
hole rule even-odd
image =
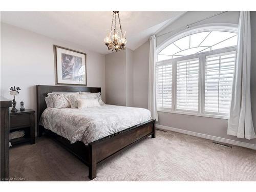
[[[215,112],[207,112],[204,111],[204,96],[205,96],[205,59],[206,56],[222,54],[228,52],[236,52],[237,46],[231,46],[216,50],[211,50],[203,53],[196,53],[193,55],[187,55],[183,57],[177,57],[174,59],[166,59],[162,61],[156,62],[156,67],[159,65],[166,65],[167,63],[172,63],[173,67],[173,79],[172,79],[172,108],[160,108],[157,107],[157,111],[159,112],[167,112],[167,113],[175,113],[175,114],[184,114],[184,115],[194,115],[194,116],[202,116],[202,117],[212,117],[212,118],[221,118],[228,119],[226,114],[215,113]],[[199,82],[198,82],[198,111],[190,111],[190,110],[177,110],[177,96],[176,96],[176,87],[177,87],[177,62],[178,61],[186,61],[190,59],[199,59]],[[157,80],[156,80],[157,81]]]

